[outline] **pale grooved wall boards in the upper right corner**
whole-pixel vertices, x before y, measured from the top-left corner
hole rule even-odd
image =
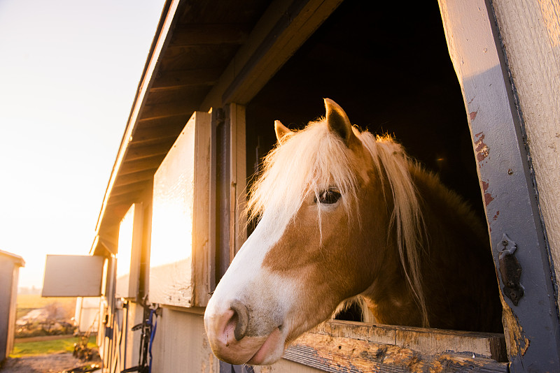
[[[493,0],[560,279],[560,2]],[[558,300],[556,300],[558,301]]]

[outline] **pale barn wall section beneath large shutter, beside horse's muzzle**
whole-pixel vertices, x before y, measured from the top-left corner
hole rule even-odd
[[[219,372],[202,314],[162,308],[153,340],[152,372]]]

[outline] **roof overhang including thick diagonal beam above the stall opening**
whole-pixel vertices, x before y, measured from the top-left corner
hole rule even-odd
[[[196,110],[246,104],[342,0],[167,0],[111,171],[92,245],[118,224]],[[221,106],[218,106],[221,107]]]

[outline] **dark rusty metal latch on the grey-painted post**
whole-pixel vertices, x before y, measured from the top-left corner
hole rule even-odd
[[[503,282],[503,294],[510,298],[513,305],[517,306],[519,299],[524,295],[525,288],[519,283],[521,279],[521,264],[515,257],[517,244],[504,233],[501,244],[503,249],[498,256],[500,264],[500,277]]]

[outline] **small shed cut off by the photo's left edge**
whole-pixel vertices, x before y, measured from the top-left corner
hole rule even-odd
[[[0,250],[0,361],[13,349],[18,279],[24,265],[21,256]]]

